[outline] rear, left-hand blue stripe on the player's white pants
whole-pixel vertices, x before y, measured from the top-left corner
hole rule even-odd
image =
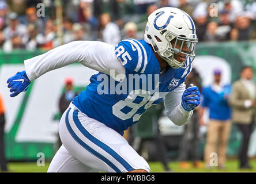
[[[99,154],[97,151],[93,150],[91,147],[89,147],[89,145],[85,144],[84,141],[82,141],[77,135],[76,133],[74,133],[73,129],[71,128],[70,124],[69,124],[69,112],[70,112],[71,108],[69,108],[69,110],[67,110],[66,113],[66,127],[67,130],[69,131],[70,135],[74,138],[74,140],[77,141],[78,144],[80,144],[83,148],[85,148],[85,150],[89,151],[91,154],[97,156],[97,158],[99,158],[100,160],[103,160],[103,162],[105,162],[106,164],[108,164],[108,166],[110,166],[113,170],[115,170],[117,173],[121,173],[121,170],[119,170],[118,167],[116,167],[112,162],[110,162],[110,160],[108,160],[106,157],[104,157],[103,155]]]

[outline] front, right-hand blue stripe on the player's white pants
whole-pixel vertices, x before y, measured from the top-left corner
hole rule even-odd
[[[77,128],[80,130],[80,132],[89,140],[91,140],[94,144],[96,144],[97,146],[99,146],[100,148],[102,148],[103,150],[105,150],[108,154],[110,154],[113,158],[115,158],[116,160],[118,160],[119,163],[122,164],[123,167],[126,168],[127,171],[132,171],[134,170],[133,167],[130,166],[129,163],[126,162],[125,159],[123,159],[120,155],[118,155],[114,150],[112,150],[112,148],[110,148],[107,144],[104,144],[103,142],[101,142],[99,139],[96,139],[96,137],[92,136],[91,133],[89,133],[88,131],[86,131],[86,129],[84,127],[82,127],[82,124],[80,122],[80,120],[77,117],[78,114],[78,110],[74,110],[73,113],[73,120],[75,122],[75,124],[77,125]]]

